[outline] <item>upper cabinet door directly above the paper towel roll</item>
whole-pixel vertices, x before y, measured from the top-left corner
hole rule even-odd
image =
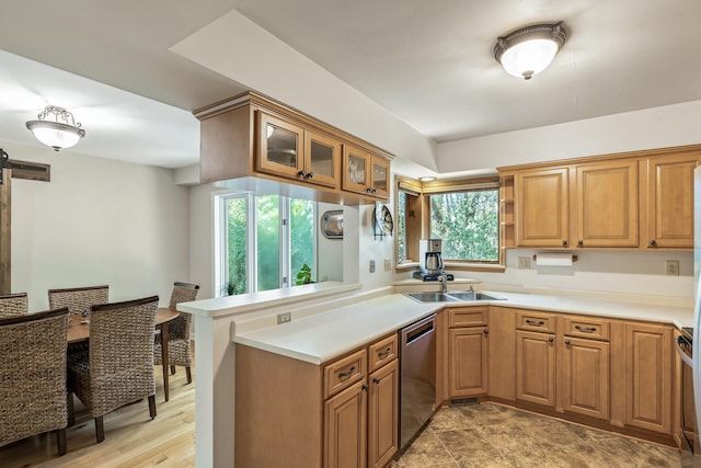
[[[517,173],[516,246],[570,247],[568,169]]]

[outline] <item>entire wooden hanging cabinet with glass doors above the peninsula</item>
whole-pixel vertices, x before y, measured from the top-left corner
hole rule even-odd
[[[252,92],[194,114],[202,183],[345,204],[389,197],[392,155],[308,115]]]

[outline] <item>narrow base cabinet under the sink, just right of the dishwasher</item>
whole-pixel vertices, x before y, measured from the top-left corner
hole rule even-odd
[[[448,388],[450,398],[487,392],[489,308],[448,309]]]

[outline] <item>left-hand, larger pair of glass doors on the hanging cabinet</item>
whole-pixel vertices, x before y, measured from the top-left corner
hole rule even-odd
[[[256,169],[311,184],[338,186],[341,142],[285,118],[257,111]]]

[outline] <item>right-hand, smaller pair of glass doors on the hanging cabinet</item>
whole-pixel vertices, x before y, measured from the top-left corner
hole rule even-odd
[[[387,198],[390,195],[389,162],[353,145],[343,147],[343,190]]]

